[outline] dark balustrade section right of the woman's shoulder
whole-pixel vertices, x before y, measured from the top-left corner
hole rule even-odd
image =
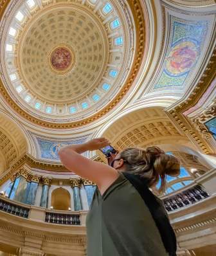
[[[179,208],[192,205],[197,201],[201,201],[209,197],[208,193],[204,191],[204,188],[200,185],[196,185],[195,187],[189,188],[179,194],[175,194],[174,196],[167,197],[163,199],[163,203],[168,212],[172,212]]]

